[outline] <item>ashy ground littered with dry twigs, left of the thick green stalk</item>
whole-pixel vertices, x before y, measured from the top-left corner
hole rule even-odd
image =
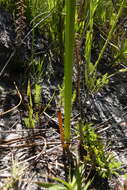
[[[1,112],[19,102],[15,86],[9,78],[1,79]],[[37,181],[49,181],[52,176],[65,176],[57,119],[44,112],[40,118],[41,123],[35,129],[27,129],[23,122],[23,102],[10,113],[1,114],[0,189],[8,189],[7,185],[12,180],[13,161],[18,163],[15,166],[17,177],[21,175],[22,178],[16,189],[38,189],[35,185]]]

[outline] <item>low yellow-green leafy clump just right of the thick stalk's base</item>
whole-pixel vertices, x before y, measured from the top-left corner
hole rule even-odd
[[[79,126],[82,146],[87,152],[84,156],[85,163],[91,165],[103,178],[117,175],[117,169],[121,163],[117,162],[111,153],[105,151],[106,147],[95,133],[93,125],[86,123],[85,126]]]

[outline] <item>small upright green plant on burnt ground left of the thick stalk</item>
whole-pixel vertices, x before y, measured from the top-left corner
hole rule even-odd
[[[33,59],[31,79],[34,81],[34,88],[31,87],[30,80],[27,85],[27,97],[28,97],[28,117],[24,118],[25,125],[28,128],[35,128],[35,125],[39,122],[39,115],[41,113],[41,91],[42,87],[39,84],[43,80],[43,60]],[[32,93],[33,92],[33,93]]]

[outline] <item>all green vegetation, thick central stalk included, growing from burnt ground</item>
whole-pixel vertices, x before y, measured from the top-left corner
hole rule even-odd
[[[28,115],[24,118],[26,128],[35,129],[40,123],[40,116],[56,98],[53,95],[41,110],[41,82],[47,69],[45,65],[51,60],[51,65],[56,70],[60,67],[62,71],[57,83],[59,100],[56,109],[63,154],[67,158],[66,180],[54,178],[59,184],[36,183],[48,189],[85,190],[92,189],[96,174],[103,179],[118,175],[121,164],[106,151],[94,124],[87,122],[80,99],[82,84],[88,100],[109,84],[112,77],[127,71],[127,1],[0,0],[0,5],[13,16],[16,33],[14,49],[20,52],[31,36],[29,58],[22,63],[16,62],[17,68],[20,63],[29,71],[25,92],[28,98]],[[38,34],[42,34],[48,43],[47,51],[39,56],[35,48]],[[47,76],[47,79],[51,80],[51,77]],[[79,121],[75,123],[76,134],[72,134],[71,117],[76,102]],[[78,137],[81,151],[87,154],[81,156],[79,153],[72,158],[70,144],[73,136]],[[71,175],[73,161],[74,174]],[[13,189],[14,180],[17,179],[10,182]]]

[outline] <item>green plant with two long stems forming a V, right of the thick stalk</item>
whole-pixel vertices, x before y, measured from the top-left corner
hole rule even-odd
[[[105,84],[108,83],[109,78],[112,76],[112,75],[109,76],[108,73],[106,73],[106,74],[102,75],[101,77],[98,77],[97,76],[97,66],[104,54],[104,51],[105,51],[108,43],[110,42],[113,32],[116,29],[116,24],[122,13],[122,9],[123,9],[125,0],[123,0],[121,2],[118,13],[115,16],[114,22],[112,22],[111,29],[108,33],[108,36],[106,38],[106,41],[105,41],[103,47],[99,53],[98,59],[96,60],[95,64],[93,64],[91,62],[91,50],[92,50],[92,42],[93,42],[93,24],[94,24],[94,19],[95,19],[97,8],[101,4],[101,2],[102,2],[102,0],[94,0],[94,1],[92,0],[89,3],[89,22],[87,24],[88,30],[86,32],[86,42],[85,42],[85,59],[86,59],[85,82],[86,82],[86,86],[87,86],[88,90],[92,93],[100,90]],[[112,14],[112,16],[114,18],[114,14]],[[122,72],[126,72],[126,69],[124,71],[122,70]]]

